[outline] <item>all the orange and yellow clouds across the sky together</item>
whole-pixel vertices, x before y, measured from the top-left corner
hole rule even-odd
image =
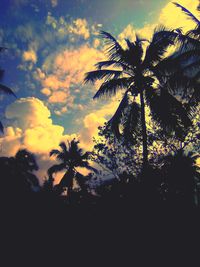
[[[52,6],[56,6],[58,1],[52,0]],[[179,0],[179,3],[197,14],[197,0]],[[182,27],[188,30],[193,26],[193,22],[179,10],[170,1],[159,14],[156,24],[166,25],[169,28]],[[151,37],[155,23],[146,24],[143,28],[137,29],[133,25],[127,25],[123,32],[118,36],[122,41],[124,38],[133,39],[135,31],[146,38]],[[9,127],[5,129],[5,134],[0,138],[1,155],[12,156],[18,149],[26,148],[37,154],[41,167],[40,177],[44,177],[45,170],[52,164],[49,158],[49,151],[58,147],[61,141],[66,139],[78,138],[83,148],[90,150],[92,148],[92,137],[97,136],[98,126],[109,118],[116,110],[118,99],[115,98],[104,106],[98,107],[96,103],[92,110],[84,110],[81,103],[75,104],[75,100],[80,98],[83,90],[83,77],[87,71],[94,68],[94,64],[104,59],[102,48],[99,47],[99,41],[96,39],[97,25],[89,26],[86,19],[76,19],[67,23],[61,17],[55,19],[50,13],[47,16],[46,25],[54,29],[59,38],[64,38],[67,34],[70,36],[70,42],[78,40],[81,37],[84,42],[79,46],[68,46],[67,48],[58,47],[54,53],[44,51],[46,55],[44,62],[40,67],[36,67],[38,62],[37,51],[39,49],[39,39],[33,41],[34,33],[28,31],[30,45],[22,53],[22,61],[29,64],[32,70],[31,75],[41,87],[40,92],[46,98],[45,105],[41,100],[35,97],[20,98],[12,103],[6,109],[6,118],[9,120]],[[19,29],[18,29],[19,31]],[[21,28],[21,33],[25,29]],[[93,38],[91,40],[91,33]],[[23,34],[21,34],[23,38]],[[44,39],[51,41],[50,34]],[[45,54],[46,53],[46,54]],[[95,90],[95,88],[93,89]],[[91,97],[94,92],[91,92]],[[86,94],[85,90],[82,94]],[[64,133],[64,127],[53,123],[51,119],[51,105],[60,105],[60,109],[54,108],[57,115],[68,112],[69,109],[76,108],[83,117],[80,116],[80,131],[72,135]],[[77,113],[79,114],[79,113]],[[66,129],[67,130],[67,129]]]

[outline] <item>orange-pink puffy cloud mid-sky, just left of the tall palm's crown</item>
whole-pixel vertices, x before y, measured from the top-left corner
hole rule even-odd
[[[75,94],[80,93],[85,73],[103,58],[101,51],[88,44],[64,49],[47,57],[41,69],[36,69],[34,77],[40,82],[41,93],[48,96],[49,103],[63,103],[70,108]]]

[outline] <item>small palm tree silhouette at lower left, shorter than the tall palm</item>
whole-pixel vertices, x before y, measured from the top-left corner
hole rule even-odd
[[[66,171],[62,177],[58,189],[60,193],[64,188],[67,188],[67,196],[70,198],[71,191],[73,188],[73,180],[75,179],[77,184],[82,190],[85,190],[85,183],[83,181],[83,175],[77,171],[77,167],[86,168],[96,172],[96,169],[89,165],[89,152],[83,153],[83,150],[78,146],[79,141],[73,139],[71,142],[65,144],[64,142],[60,143],[61,150],[53,149],[50,152],[50,156],[55,155],[57,160],[61,163],[53,165],[48,169],[48,175],[50,180],[54,180],[53,174],[60,171]]]

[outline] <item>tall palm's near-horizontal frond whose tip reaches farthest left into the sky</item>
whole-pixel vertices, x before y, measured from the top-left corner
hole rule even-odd
[[[95,70],[95,71],[87,72],[85,74],[84,82],[94,83],[97,80],[101,80],[104,78],[106,78],[107,80],[111,78],[117,79],[121,75],[122,75],[122,71],[118,71],[118,70]]]

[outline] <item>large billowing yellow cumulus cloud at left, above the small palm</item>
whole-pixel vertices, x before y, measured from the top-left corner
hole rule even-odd
[[[20,98],[6,109],[9,126],[0,138],[0,155],[14,156],[19,149],[26,148],[36,154],[41,181],[46,170],[55,162],[49,158],[49,151],[57,148],[61,141],[76,135],[64,134],[64,127],[56,125],[44,103],[35,97]]]

